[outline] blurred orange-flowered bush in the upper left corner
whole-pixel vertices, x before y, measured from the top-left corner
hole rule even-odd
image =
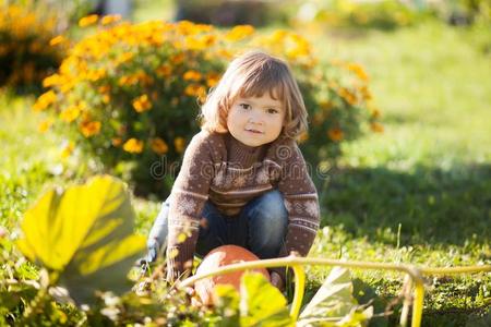
[[[50,46],[61,40],[58,16],[43,3],[9,2],[0,4],[0,86],[39,92],[64,56],[62,45]]]

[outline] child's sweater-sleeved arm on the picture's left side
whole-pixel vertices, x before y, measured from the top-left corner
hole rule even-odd
[[[201,213],[214,175],[209,134],[201,132],[184,153],[172,186],[169,207],[167,280],[173,281],[192,267]]]

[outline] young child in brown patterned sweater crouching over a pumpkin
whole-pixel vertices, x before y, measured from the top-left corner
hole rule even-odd
[[[194,254],[224,244],[260,258],[306,256],[319,199],[296,137],[307,110],[290,69],[252,51],[235,59],[202,107],[179,175],[148,237],[146,259],[167,246],[167,279],[188,275]],[[283,289],[285,269],[271,269]]]

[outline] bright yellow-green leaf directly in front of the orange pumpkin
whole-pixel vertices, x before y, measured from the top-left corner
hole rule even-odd
[[[241,326],[294,326],[285,296],[259,272],[242,275],[240,316]]]

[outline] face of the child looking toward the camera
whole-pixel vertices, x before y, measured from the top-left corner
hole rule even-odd
[[[241,143],[261,146],[279,136],[284,120],[282,101],[265,92],[261,97],[238,97],[228,112],[227,128]]]

